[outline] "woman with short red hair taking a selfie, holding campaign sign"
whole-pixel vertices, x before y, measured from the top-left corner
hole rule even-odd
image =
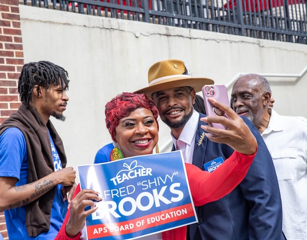
[[[247,174],[257,152],[257,141],[242,119],[229,107],[218,102],[214,105],[227,113],[231,126],[236,126],[235,129],[232,127],[232,130],[225,131],[230,133],[229,138],[235,142],[234,150],[237,146],[240,152],[234,151],[212,173],[185,163],[195,206],[215,201],[230,193]],[[108,102],[105,106],[105,122],[114,146],[108,145],[99,150],[100,162],[116,160],[115,157],[151,154],[158,143],[158,115],[157,107],[145,94],[123,92]],[[97,156],[96,159],[98,159]],[[97,163],[98,160],[95,162]],[[64,223],[55,239],[81,239],[80,231],[84,227],[85,218],[97,210],[93,200],[102,200],[97,196],[96,191],[91,189],[80,191],[79,186],[74,195]],[[91,208],[84,210],[86,206]],[[146,236],[145,239],[184,240],[186,227]]]

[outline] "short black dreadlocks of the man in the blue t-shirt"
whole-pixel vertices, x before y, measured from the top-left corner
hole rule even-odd
[[[32,100],[34,86],[38,85],[48,89],[50,84],[61,85],[63,90],[68,90],[67,70],[49,61],[25,64],[18,79],[18,92],[21,102],[28,107]]]

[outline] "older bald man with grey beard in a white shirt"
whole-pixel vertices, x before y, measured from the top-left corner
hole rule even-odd
[[[232,108],[249,118],[272,155],[282,201],[282,230],[289,240],[307,239],[307,119],[270,108],[266,78],[244,75],[234,83]]]

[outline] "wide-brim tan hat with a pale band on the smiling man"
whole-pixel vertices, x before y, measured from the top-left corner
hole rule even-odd
[[[148,87],[135,93],[145,93],[151,98],[153,92],[184,86],[192,87],[195,92],[199,92],[204,85],[214,84],[214,81],[209,78],[192,78],[183,61],[169,59],[156,62],[148,69],[148,84]]]

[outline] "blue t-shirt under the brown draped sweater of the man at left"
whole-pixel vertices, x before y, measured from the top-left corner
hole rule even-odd
[[[62,165],[52,139],[51,148],[55,171],[57,171],[62,169]],[[18,128],[8,128],[0,136],[0,149],[0,177],[17,178],[15,186],[27,184],[28,157],[24,134]],[[62,201],[61,187],[61,185],[57,185],[55,189],[50,229],[37,237],[29,237],[28,235],[24,206],[4,211],[9,239],[54,239],[62,226],[68,207],[68,202]]]

